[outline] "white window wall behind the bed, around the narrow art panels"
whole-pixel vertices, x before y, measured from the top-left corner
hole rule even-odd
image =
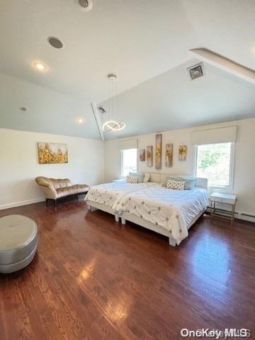
[[[162,174],[193,174],[193,145],[191,144],[191,132],[205,128],[237,125],[237,142],[235,143],[234,162],[234,188],[213,189],[213,191],[234,192],[237,194],[237,211],[255,215],[255,118],[232,121],[214,125],[187,128],[182,130],[162,132],[162,170],[155,170],[154,166],[148,168],[146,162],[138,161],[138,171],[162,172]],[[155,133],[132,137],[137,138],[138,149],[145,149],[147,145],[155,145]],[[128,139],[128,138],[125,138]],[[174,166],[164,166],[164,147],[166,143],[174,144]],[[179,162],[179,145],[188,146],[187,160]],[[105,142],[105,177],[106,181],[120,177],[120,148],[119,140]]]

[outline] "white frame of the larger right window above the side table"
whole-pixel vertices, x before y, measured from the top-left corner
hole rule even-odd
[[[194,154],[194,161],[193,161],[193,174],[197,176],[197,162],[198,162],[198,146],[199,145],[213,145],[213,144],[220,144],[225,142],[215,142],[215,143],[205,143],[205,144],[196,144],[194,145],[193,154]],[[226,142],[228,143],[228,142]],[[217,188],[217,189],[234,189],[234,158],[235,158],[235,142],[230,143],[230,164],[229,164],[229,185],[228,186],[209,186],[208,188]]]

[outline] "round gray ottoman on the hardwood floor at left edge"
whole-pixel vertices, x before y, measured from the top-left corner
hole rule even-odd
[[[0,273],[12,273],[28,266],[38,246],[38,227],[28,217],[0,218]]]

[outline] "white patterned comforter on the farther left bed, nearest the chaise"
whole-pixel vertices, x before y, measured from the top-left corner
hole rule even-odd
[[[157,184],[128,183],[126,181],[103,183],[99,184],[98,186],[91,186],[84,200],[90,200],[92,202],[108,205],[115,212],[118,203],[123,197],[125,197],[125,195],[128,193],[133,193],[137,190],[141,190],[142,188],[155,185]]]

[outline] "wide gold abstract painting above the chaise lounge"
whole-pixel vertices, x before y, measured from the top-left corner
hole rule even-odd
[[[38,142],[39,164],[68,163],[67,144]]]

